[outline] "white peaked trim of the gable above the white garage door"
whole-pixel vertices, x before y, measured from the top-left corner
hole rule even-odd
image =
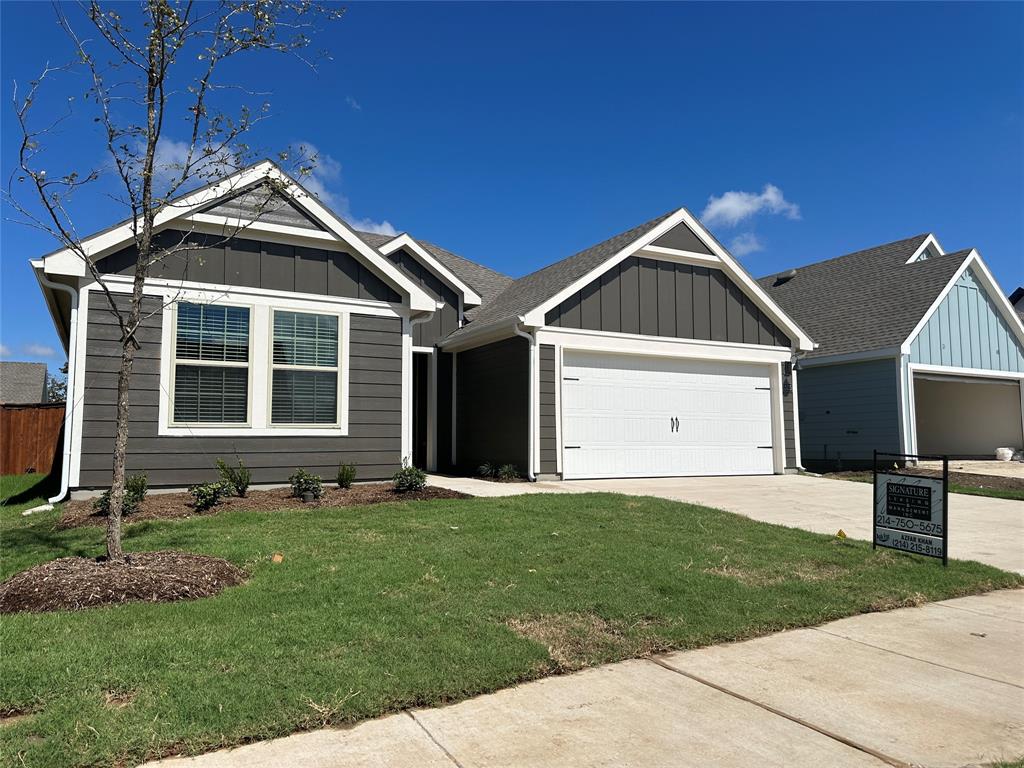
[[[718,241],[711,236],[711,233],[705,229],[703,225],[697,221],[690,212],[685,208],[680,208],[674,214],[669,216],[665,221],[657,224],[646,234],[638,238],[637,240],[630,243],[621,251],[615,253],[611,258],[602,262],[599,266],[591,269],[587,274],[574,281],[567,288],[559,291],[552,298],[545,301],[540,306],[531,309],[525,315],[525,323],[527,326],[541,327],[544,325],[544,316],[547,314],[549,309],[558,306],[565,299],[570,297],[575,292],[582,290],[584,287],[589,285],[591,282],[599,278],[602,273],[607,271],[610,267],[624,261],[628,257],[634,255],[641,249],[646,249],[655,240],[660,238],[663,234],[668,232],[677,224],[685,224],[688,226],[697,238],[708,247],[708,249],[717,257],[716,265],[719,266],[722,271],[728,274],[735,283],[744,290],[748,296],[754,300],[754,303],[767,314],[776,326],[778,326],[783,333],[790,338],[796,340],[797,345],[800,349],[813,349],[814,342],[811,338],[804,333],[804,331],[798,326],[792,317],[790,317],[782,309],[765,293],[764,289],[758,285],[757,281],[751,276],[751,274],[739,265],[739,263],[726,251]],[[675,250],[675,249],[668,249]],[[688,251],[680,251],[680,254],[685,254],[687,257],[692,258],[694,254]],[[700,254],[696,254],[700,255]],[[707,258],[707,257],[706,257]]]

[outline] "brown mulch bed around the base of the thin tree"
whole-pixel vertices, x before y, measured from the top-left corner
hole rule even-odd
[[[245,579],[227,560],[188,552],[134,552],[123,562],[61,557],[0,583],[0,613],[194,600]]]

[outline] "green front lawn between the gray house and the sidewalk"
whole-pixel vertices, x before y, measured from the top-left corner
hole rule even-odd
[[[3,480],[0,577],[96,555]],[[226,557],[197,602],[0,622],[0,763],[133,764],[438,705],[581,666],[1013,587],[976,562],[594,494],[231,512],[126,527]],[[273,553],[284,561],[270,561]],[[549,649],[550,646],[550,649]]]

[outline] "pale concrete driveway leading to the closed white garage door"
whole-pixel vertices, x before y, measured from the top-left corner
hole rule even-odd
[[[871,485],[807,475],[568,480],[575,490],[656,496],[818,534],[871,539]],[[1024,573],[1024,502],[949,495],[949,556]]]

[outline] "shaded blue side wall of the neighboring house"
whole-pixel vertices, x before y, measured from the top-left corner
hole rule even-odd
[[[900,450],[896,358],[803,368],[799,393],[808,469],[865,467],[873,450]]]

